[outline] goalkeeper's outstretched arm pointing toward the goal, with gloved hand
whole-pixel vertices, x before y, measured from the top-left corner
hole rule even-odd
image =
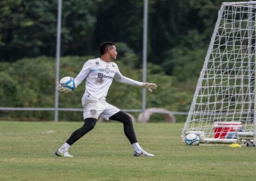
[[[157,88],[156,84],[152,84],[152,83],[148,83],[148,82],[147,83],[138,82],[138,81],[133,80],[131,78],[124,77],[121,74],[121,72],[119,71],[119,69],[116,71],[114,78],[117,82],[120,82],[120,83],[123,83],[123,84],[128,84],[128,85],[139,86],[139,87],[147,89],[150,92],[152,92],[151,89],[156,89]]]

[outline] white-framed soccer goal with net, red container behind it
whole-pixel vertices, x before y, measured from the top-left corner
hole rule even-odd
[[[256,145],[256,1],[222,3],[182,131]]]

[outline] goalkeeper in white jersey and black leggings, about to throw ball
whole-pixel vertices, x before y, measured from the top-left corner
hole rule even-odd
[[[86,90],[82,97],[84,125],[72,133],[61,148],[55,151],[55,155],[73,157],[67,152],[69,147],[92,130],[98,117],[102,116],[107,120],[111,119],[123,123],[125,136],[128,138],[135,150],[134,156],[154,156],[153,154],[149,154],[141,149],[135,136],[131,117],[117,107],[107,103],[105,100],[113,78],[123,84],[140,86],[150,92],[152,92],[151,89],[156,89],[156,84],[141,83],[122,76],[118,66],[111,61],[115,60],[117,56],[114,43],[102,43],[100,45],[100,52],[101,58],[90,59],[85,62],[82,70],[75,78],[77,86],[86,78]],[[57,84],[57,91],[67,93],[65,87],[61,86],[59,83]]]

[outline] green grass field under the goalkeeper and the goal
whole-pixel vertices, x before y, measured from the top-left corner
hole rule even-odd
[[[0,181],[254,181],[256,148],[186,146],[182,123],[136,123],[141,147],[155,157],[134,157],[121,123],[97,123],[70,149],[55,149],[82,125],[70,122],[0,122]]]

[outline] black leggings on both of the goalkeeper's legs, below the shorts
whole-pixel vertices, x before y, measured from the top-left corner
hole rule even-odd
[[[133,128],[132,118],[128,116],[128,114],[124,113],[123,111],[119,111],[115,115],[111,116],[109,119],[120,121],[121,123],[123,123],[124,134],[130,141],[130,143],[133,144],[137,142],[135,131]],[[84,125],[81,128],[75,130],[70,136],[70,138],[67,139],[67,144],[74,144],[74,142],[79,140],[82,136],[84,136],[90,130],[94,129],[96,122],[97,119],[95,118],[86,118],[84,120]]]

